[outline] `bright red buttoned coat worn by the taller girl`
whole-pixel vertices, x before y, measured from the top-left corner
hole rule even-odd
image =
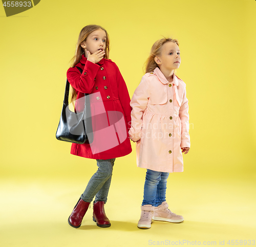
[[[70,84],[75,88],[77,93],[77,99],[84,97],[86,94],[100,93],[100,97],[94,97],[91,99],[91,110],[97,111],[97,103],[103,102],[103,107],[108,113],[119,112],[123,114],[121,127],[113,127],[115,129],[115,136],[108,136],[108,131],[104,133],[108,137],[104,137],[105,134],[97,136],[94,133],[93,143],[75,144],[72,143],[71,154],[82,156],[84,158],[106,160],[113,159],[121,156],[125,156],[132,152],[131,142],[129,139],[128,131],[131,127],[131,106],[130,96],[123,80],[123,77],[117,67],[117,65],[111,59],[101,59],[98,63],[87,61],[87,58],[82,55],[82,58],[76,66],[80,67],[83,72],[79,72],[77,68],[70,68],[67,72],[67,78]],[[91,97],[91,96],[90,96]],[[94,99],[95,98],[95,99]],[[100,100],[99,100],[100,98]],[[97,101],[99,100],[99,101]],[[92,113],[93,115],[94,113]],[[113,121],[110,119],[108,114],[108,126],[113,126]],[[93,129],[97,129],[102,125],[100,121],[96,121],[96,118],[92,118]],[[124,126],[125,125],[125,126]],[[95,127],[96,126],[96,127]],[[118,129],[119,130],[118,130]],[[119,132],[118,132],[119,131]],[[121,131],[121,135],[120,135]],[[113,132],[112,132],[113,134]],[[97,141],[95,140],[97,139]],[[116,139],[116,146],[102,152],[92,151],[91,145],[98,143],[99,138],[109,138],[110,143]],[[104,141],[102,139],[102,142]],[[92,146],[93,147],[93,146]]]

